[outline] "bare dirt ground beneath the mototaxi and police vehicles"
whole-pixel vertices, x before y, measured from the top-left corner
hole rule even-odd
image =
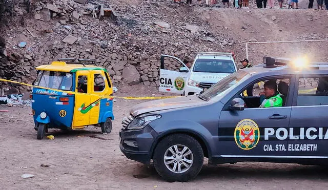
[[[117,96],[163,95],[155,88],[119,87]],[[166,94],[167,95],[167,94]],[[326,168],[299,164],[204,164],[196,179],[168,183],[119,150],[121,120],[131,105],[145,100],[116,99],[111,134],[89,126],[69,133],[49,130],[54,140],[37,140],[31,108],[0,106],[0,188],[2,189],[325,189]],[[83,137],[78,137],[83,136]],[[42,164],[49,167],[41,166]],[[22,174],[35,175],[22,179]]]

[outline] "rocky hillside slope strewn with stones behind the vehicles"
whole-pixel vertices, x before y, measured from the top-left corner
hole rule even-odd
[[[16,2],[12,17],[2,19],[0,77],[28,83],[35,67],[73,57],[96,59],[115,83],[158,86],[160,54],[192,61],[197,51],[234,51],[239,62],[248,41],[328,38],[327,13],[321,10],[237,10],[139,0]],[[249,53],[254,63],[264,55],[302,52],[322,60],[328,57],[326,45],[252,45]]]

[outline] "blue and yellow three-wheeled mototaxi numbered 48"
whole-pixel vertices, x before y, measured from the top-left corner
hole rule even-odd
[[[32,112],[37,139],[48,129],[76,130],[88,125],[112,130],[113,85],[106,69],[93,59],[58,59],[36,68],[33,82]]]

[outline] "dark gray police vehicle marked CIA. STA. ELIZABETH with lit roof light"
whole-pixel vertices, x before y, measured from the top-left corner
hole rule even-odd
[[[260,96],[244,96],[269,80],[281,107],[261,108]],[[264,57],[202,94],[136,105],[122,121],[120,150],[145,164],[152,159],[163,179],[181,182],[197,176],[204,157],[209,164],[326,164],[327,112],[328,63]]]

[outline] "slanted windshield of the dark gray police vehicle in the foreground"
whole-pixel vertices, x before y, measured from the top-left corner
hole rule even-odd
[[[224,77],[222,80],[218,81],[213,87],[200,94],[198,97],[205,101],[209,101],[210,99],[218,95],[225,95],[226,93],[237,87],[241,82],[245,81],[250,77],[251,75],[249,73],[239,70],[231,75]]]

